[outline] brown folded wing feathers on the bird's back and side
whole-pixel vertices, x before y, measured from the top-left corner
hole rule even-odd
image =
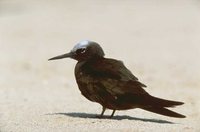
[[[114,59],[101,59],[90,63],[88,71],[98,78],[96,85],[104,87],[108,92],[118,95],[125,93],[146,94],[142,87],[146,85],[124,66],[123,62]]]

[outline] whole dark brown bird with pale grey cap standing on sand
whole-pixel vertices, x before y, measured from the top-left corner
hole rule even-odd
[[[75,78],[81,94],[102,106],[97,117],[103,118],[106,109],[116,110],[140,108],[160,115],[185,118],[185,115],[167,109],[184,104],[179,101],[154,97],[145,91],[141,83],[120,60],[104,57],[101,46],[94,41],[83,40],[65,54],[50,58],[57,60],[71,58],[77,62]]]

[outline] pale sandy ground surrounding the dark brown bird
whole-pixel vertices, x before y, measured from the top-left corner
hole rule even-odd
[[[0,0],[0,131],[200,131],[198,0]],[[47,59],[83,39],[123,60],[152,95],[184,101],[185,119],[140,109],[96,119],[74,60]],[[106,115],[111,111],[106,111]]]

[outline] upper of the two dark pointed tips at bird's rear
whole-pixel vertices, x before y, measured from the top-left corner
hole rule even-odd
[[[183,102],[165,100],[165,99],[160,99],[160,98],[153,97],[153,96],[149,96],[147,98],[147,102],[151,106],[155,106],[155,107],[174,107],[176,105],[184,104]]]

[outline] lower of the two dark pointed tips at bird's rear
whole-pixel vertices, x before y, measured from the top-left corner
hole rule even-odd
[[[170,117],[176,117],[176,118],[185,118],[186,117],[186,116],[176,113],[174,111],[168,110],[164,107],[146,107],[146,108],[142,108],[142,109],[153,112],[153,113],[165,115],[165,116],[170,116]]]

